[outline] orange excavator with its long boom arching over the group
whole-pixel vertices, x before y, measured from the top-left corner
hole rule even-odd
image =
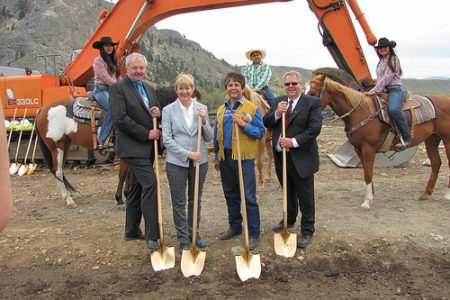
[[[119,41],[116,53],[118,61],[122,61],[126,55],[139,51],[143,34],[164,18],[195,11],[288,1],[291,0],[119,0],[111,11],[99,12],[97,30],[76,58],[66,66],[61,76],[31,74],[0,77],[0,98],[5,118],[11,119],[14,115],[21,117],[25,109],[26,116],[34,118],[39,108],[52,101],[86,96],[87,84],[93,77],[92,62],[98,55],[92,44],[102,36],[110,36],[114,41]],[[306,1],[319,20],[323,44],[339,67],[325,71],[355,89],[366,90],[373,86],[374,80],[370,75],[348,7],[359,21],[367,42],[374,45],[377,39],[357,1]],[[23,157],[23,154],[20,156]]]

